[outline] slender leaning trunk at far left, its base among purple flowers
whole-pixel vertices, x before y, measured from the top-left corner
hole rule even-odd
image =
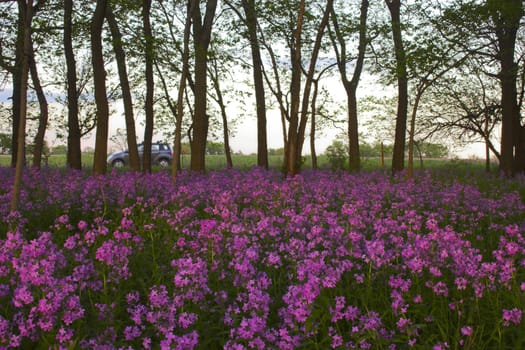
[[[25,12],[23,13],[23,54],[20,62],[21,79],[20,79],[20,115],[18,127],[18,157],[16,159],[15,179],[13,184],[13,195],[11,197],[11,211],[18,209],[20,200],[20,188],[22,185],[22,170],[24,168],[25,152],[25,129],[27,114],[27,79],[29,76],[29,59],[31,56],[31,22],[33,19],[33,0],[27,0],[25,3]]]

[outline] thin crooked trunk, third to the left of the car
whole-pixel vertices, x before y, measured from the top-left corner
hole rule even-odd
[[[40,77],[38,76],[33,41],[31,40],[31,38],[29,43],[29,50],[31,52],[31,56],[29,57],[29,71],[31,73],[31,79],[33,81],[33,86],[38,98],[38,105],[40,107],[40,115],[38,117],[38,129],[35,135],[35,148],[33,151],[33,167],[40,168],[42,164],[42,153],[44,151],[44,139],[47,129],[49,109],[44,90],[42,89],[42,84],[40,83]]]

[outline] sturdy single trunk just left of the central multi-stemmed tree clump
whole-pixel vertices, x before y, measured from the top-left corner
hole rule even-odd
[[[246,14],[246,26],[252,52],[253,83],[255,87],[255,103],[257,108],[257,165],[268,169],[266,101],[264,96],[261,50],[259,47],[259,39],[257,37],[257,13],[255,9],[255,0],[243,0],[242,6]]]

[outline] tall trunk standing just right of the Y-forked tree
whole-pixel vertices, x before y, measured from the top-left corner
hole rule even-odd
[[[408,114],[408,76],[405,49],[401,33],[401,0],[385,0],[391,16],[392,37],[396,56],[397,74],[397,118],[394,137],[392,171],[398,172],[405,167],[405,143]]]

